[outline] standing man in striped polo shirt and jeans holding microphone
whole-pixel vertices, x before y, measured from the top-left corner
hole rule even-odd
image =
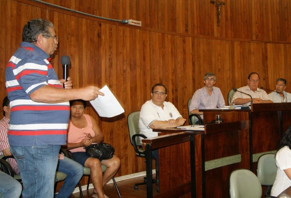
[[[71,89],[70,78],[59,80],[50,63],[58,45],[50,21],[28,21],[22,41],[5,70],[8,141],[23,183],[22,198],[52,198],[60,147],[67,144],[68,101],[104,94],[95,86]]]

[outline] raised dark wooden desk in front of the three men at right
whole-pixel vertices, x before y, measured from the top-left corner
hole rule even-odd
[[[276,152],[283,132],[291,124],[291,103],[253,104],[249,110],[202,109],[204,122],[222,114],[224,122],[249,121],[250,170],[256,173],[257,159]]]

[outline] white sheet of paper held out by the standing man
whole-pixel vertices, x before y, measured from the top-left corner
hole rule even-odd
[[[91,105],[97,111],[99,116],[112,118],[124,112],[124,109],[121,107],[120,103],[117,101],[113,93],[109,90],[107,85],[105,85],[99,91],[103,92],[104,96],[98,95],[95,100],[90,101]]]

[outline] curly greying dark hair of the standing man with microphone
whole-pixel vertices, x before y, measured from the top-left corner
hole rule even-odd
[[[53,24],[49,20],[42,18],[31,19],[23,27],[22,41],[35,43],[39,34],[43,34],[44,37],[48,38],[48,36],[51,36],[49,27],[54,29]]]

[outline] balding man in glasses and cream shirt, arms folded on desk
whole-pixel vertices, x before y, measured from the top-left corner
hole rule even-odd
[[[251,105],[251,97],[253,98],[253,103],[273,103],[271,97],[266,93],[266,91],[258,88],[258,83],[260,76],[256,72],[252,72],[248,76],[248,85],[241,87],[233,95],[236,105],[249,106]],[[241,93],[242,91],[244,93]]]

